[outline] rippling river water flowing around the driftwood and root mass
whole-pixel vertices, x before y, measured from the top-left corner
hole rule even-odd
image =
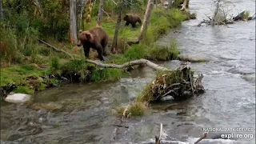
[[[255,0],[233,0],[231,13],[242,10],[254,13]],[[224,132],[209,132],[200,143],[255,142],[255,21],[234,25],[197,27],[204,14],[213,11],[210,0],[190,0],[196,20],[183,22],[181,33],[167,34],[159,40],[165,45],[170,38],[178,40],[182,53],[202,54],[210,62],[192,63],[204,74],[206,93],[182,103],[159,103],[142,118],[132,118],[125,125],[113,126],[117,118],[110,115],[113,103],[133,101],[154,78],[149,68],[134,70],[130,78],[119,82],[69,84],[51,88],[34,96],[34,103],[61,113],[39,110],[38,105],[1,107],[1,143],[152,143],[163,124],[164,143],[194,143],[202,128],[253,128],[253,138],[211,139]],[[175,68],[179,61],[160,62]],[[39,106],[39,107],[40,107]],[[243,135],[246,136],[246,135]]]

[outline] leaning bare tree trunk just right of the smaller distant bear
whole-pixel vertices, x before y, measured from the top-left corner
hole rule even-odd
[[[141,34],[138,37],[138,42],[142,40],[143,36],[146,34],[147,26],[150,22],[150,15],[153,9],[153,0],[148,0],[146,6],[146,13],[142,22]]]

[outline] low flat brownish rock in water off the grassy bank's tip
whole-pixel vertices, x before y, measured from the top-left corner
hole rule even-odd
[[[206,56],[199,54],[178,54],[178,60],[188,62],[209,62]]]

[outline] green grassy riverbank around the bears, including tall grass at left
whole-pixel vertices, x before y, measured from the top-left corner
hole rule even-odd
[[[138,11],[138,14],[143,15],[142,9],[138,9]],[[101,69],[87,63],[83,58],[82,47],[66,42],[66,37],[63,40],[62,34],[58,34],[56,38],[52,35],[50,38],[46,38],[46,34],[42,37],[42,28],[36,28],[40,22],[33,23],[33,26],[27,26],[25,21],[28,19],[22,20],[25,16],[18,17],[21,22],[16,22],[15,28],[11,28],[10,24],[5,22],[0,25],[2,28],[0,44],[2,50],[6,50],[6,54],[1,56],[2,94],[3,90],[6,90],[7,93],[14,91],[16,93],[33,94],[34,91],[44,90],[50,86],[59,86],[62,82],[115,81],[121,78],[122,74],[126,74],[126,70]],[[96,14],[93,16],[92,22],[86,24],[86,30],[96,26]],[[138,58],[160,61],[177,58],[179,52],[174,39],[170,40],[168,46],[158,46],[154,42],[171,28],[181,26],[182,22],[190,19],[190,17],[189,13],[184,13],[175,8],[170,10],[154,8],[146,37],[140,44],[133,46],[128,46],[127,42],[138,38],[140,26],[131,28],[130,26],[124,26],[124,22],[122,22],[118,34],[118,54],[110,55],[108,62],[122,64]],[[102,27],[110,36],[109,46],[111,46],[116,14],[110,15],[110,18],[106,16],[103,18]],[[63,26],[65,27],[61,23],[58,23],[58,26],[60,30]],[[75,59],[71,60],[66,54],[51,50],[38,42],[38,38],[43,38],[53,46],[74,54]],[[97,53],[91,50],[90,58],[97,58]]]

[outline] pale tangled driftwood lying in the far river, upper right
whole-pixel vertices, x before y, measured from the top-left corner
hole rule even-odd
[[[228,25],[228,24],[233,24],[234,22],[237,21],[250,21],[255,19],[255,14],[252,15],[251,17],[244,19],[244,16],[246,14],[246,10],[243,10],[241,13],[239,13],[237,16],[233,18],[224,18],[221,21],[216,21],[216,18],[210,18],[209,16],[206,16],[209,19],[203,19],[202,22],[198,24],[198,26],[202,26],[203,24],[206,24],[207,26],[210,25]]]

